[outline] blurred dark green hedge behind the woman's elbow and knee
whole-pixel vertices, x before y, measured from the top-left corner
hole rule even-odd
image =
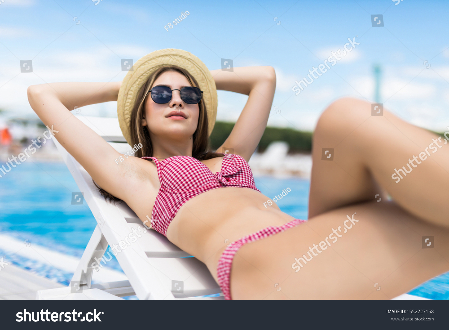
[[[216,150],[228,138],[235,123],[217,121],[210,140],[211,148]],[[285,141],[290,145],[289,152],[310,152],[312,150],[312,132],[303,132],[291,128],[267,127],[265,129],[258,152],[264,152],[273,141]]]

